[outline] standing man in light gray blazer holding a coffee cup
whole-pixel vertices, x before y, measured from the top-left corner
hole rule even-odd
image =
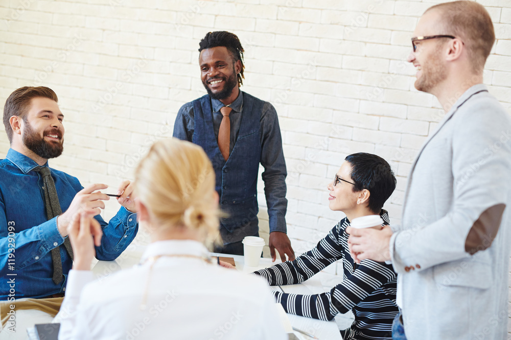
[[[482,84],[494,41],[475,2],[424,13],[408,61],[445,116],[412,164],[402,226],[346,230],[357,261],[392,261],[408,339],[506,338],[511,119]]]

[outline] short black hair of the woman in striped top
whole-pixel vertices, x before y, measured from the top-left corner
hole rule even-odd
[[[396,189],[396,176],[390,165],[380,156],[366,152],[350,154],[345,160],[352,167],[353,191],[369,190],[367,207],[371,212],[380,214],[383,203]]]

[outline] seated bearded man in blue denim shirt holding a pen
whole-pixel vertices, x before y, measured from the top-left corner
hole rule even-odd
[[[129,181],[123,181],[117,191],[122,207],[106,223],[99,215],[103,201],[109,199],[99,192],[106,185],[83,188],[76,177],[48,168],[48,159],[63,151],[64,115],[57,101],[47,87],[22,87],[5,103],[4,125],[11,148],[0,161],[0,300],[9,304],[22,298],[63,296],[72,266],[67,227],[77,213],[88,211],[101,224],[103,237],[96,247],[100,260],[117,258],[138,228]],[[43,173],[51,174],[51,179]],[[53,186],[56,195],[52,196],[46,192],[52,192]],[[48,205],[55,204],[60,208],[50,218]]]

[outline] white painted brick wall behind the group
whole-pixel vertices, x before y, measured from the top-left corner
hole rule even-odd
[[[497,35],[484,79],[511,111],[511,2],[478,2]],[[271,101],[280,116],[288,230],[301,252],[342,218],[328,209],[326,185],[349,153],[375,152],[390,162],[398,188],[386,207],[399,223],[410,163],[443,116],[434,97],[413,88],[413,67],[404,62],[417,19],[433,3],[3,1],[0,98],[26,85],[53,88],[67,131],[64,155],[51,164],[83,185],[116,187],[153,141],[172,135],[179,107],[204,93],[199,40],[214,30],[236,33],[246,50],[243,90]],[[8,148],[0,136],[0,149]],[[267,238],[262,182],[259,190]],[[105,217],[116,209],[109,202]],[[334,282],[341,270],[327,273]]]

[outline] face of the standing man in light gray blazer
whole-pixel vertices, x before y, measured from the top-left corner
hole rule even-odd
[[[439,35],[440,14],[436,10],[426,12],[413,32],[414,37]],[[443,47],[447,38],[417,41],[417,49],[412,51],[408,62],[413,63],[417,73],[415,88],[419,91],[433,93],[447,79],[447,67],[442,59]]]

